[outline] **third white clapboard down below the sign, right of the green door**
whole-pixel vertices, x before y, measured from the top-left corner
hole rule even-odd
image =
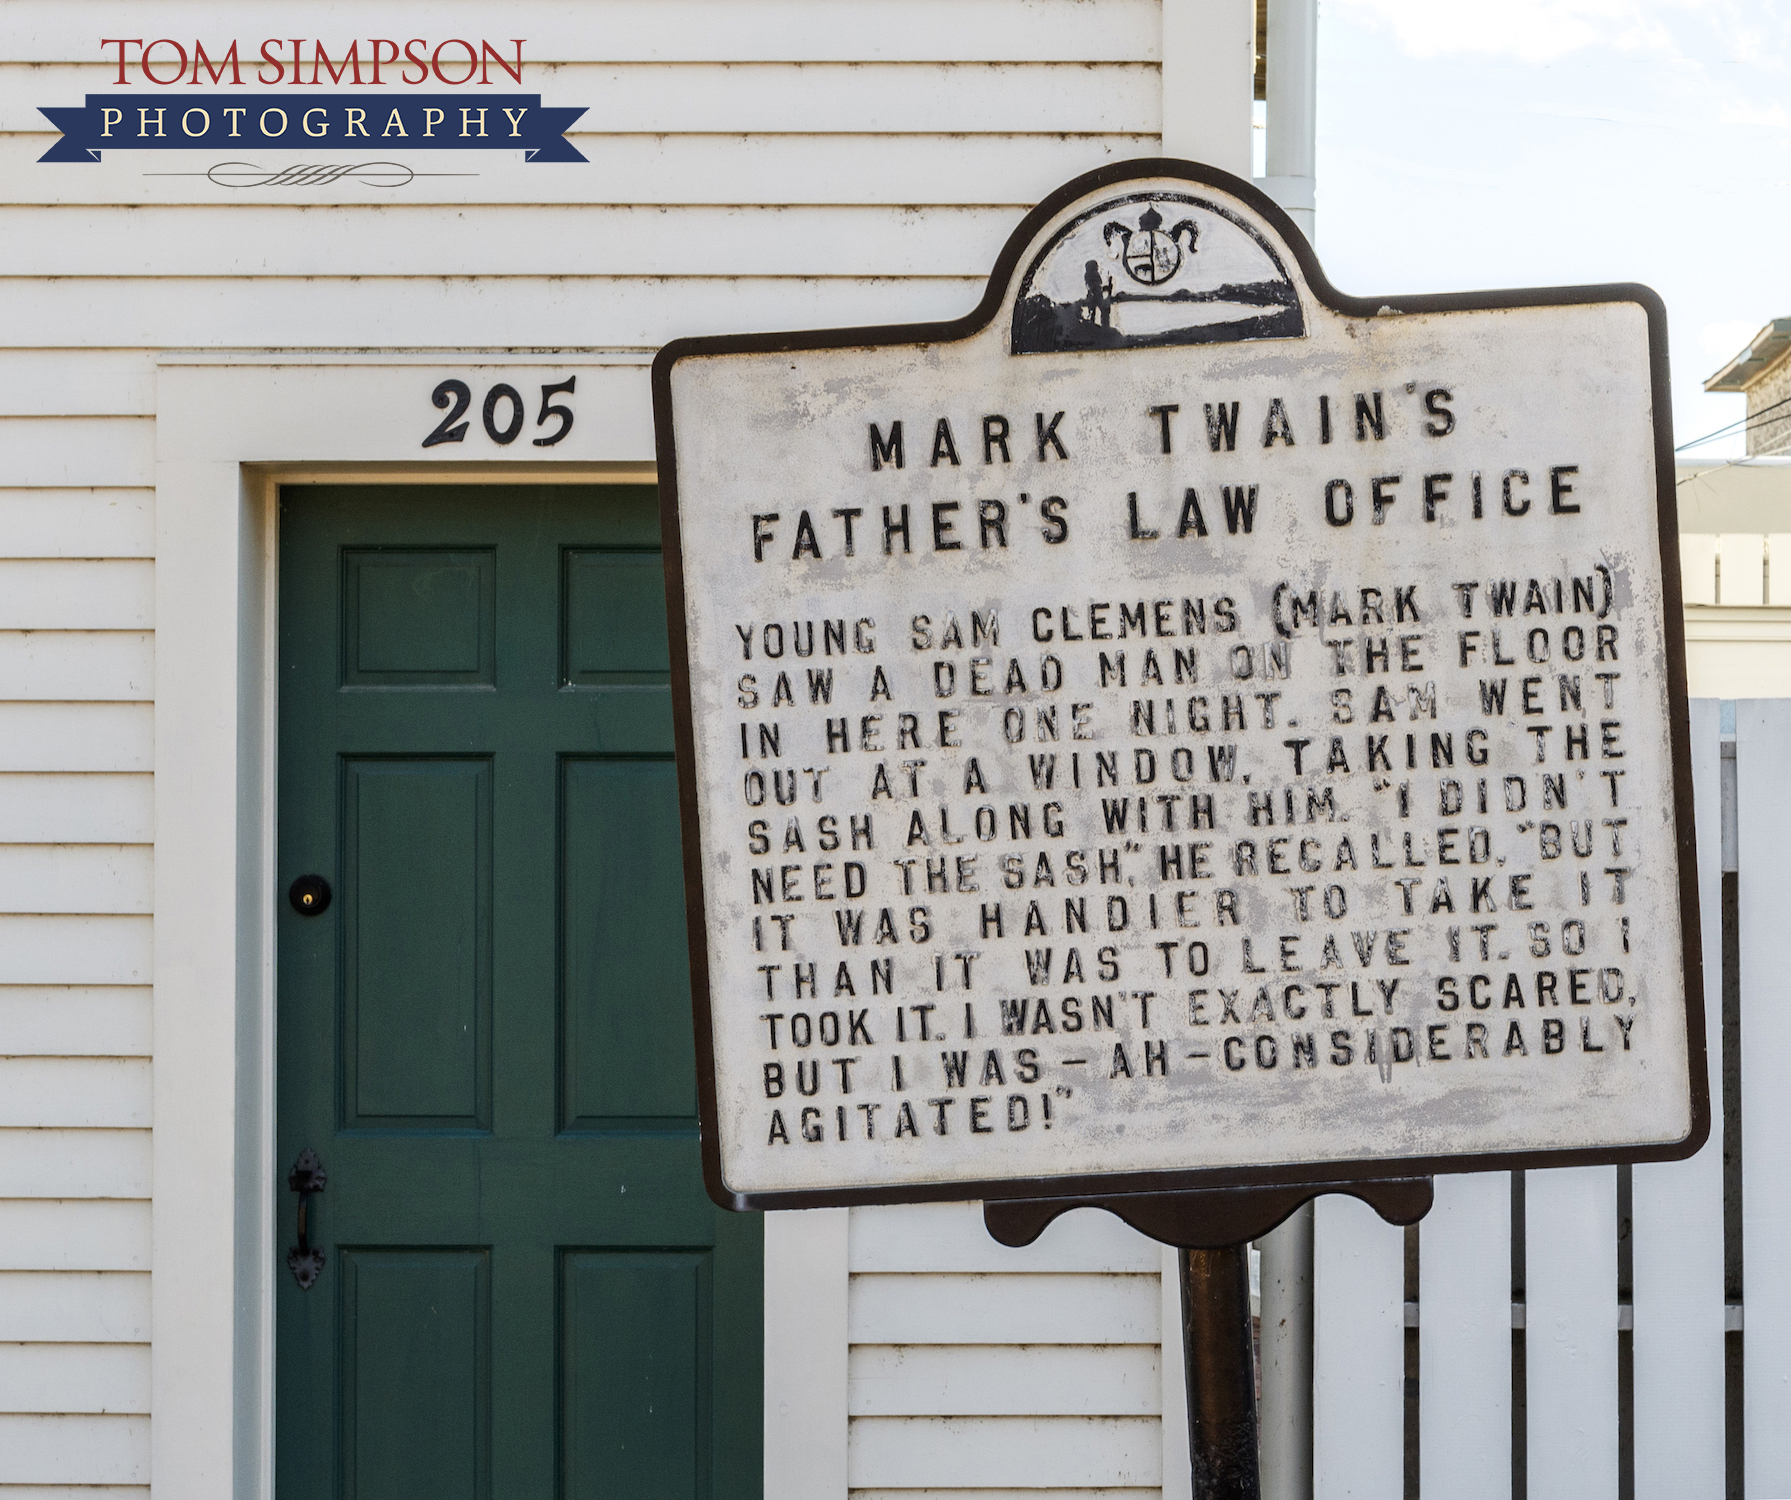
[[[860,1344],[849,1369],[853,1416],[1159,1416],[1162,1409],[1155,1344]]]

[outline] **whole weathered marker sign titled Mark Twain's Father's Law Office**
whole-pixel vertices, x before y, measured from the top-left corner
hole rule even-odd
[[[720,1201],[1701,1142],[1651,292],[1349,299],[1134,163],[654,379]]]

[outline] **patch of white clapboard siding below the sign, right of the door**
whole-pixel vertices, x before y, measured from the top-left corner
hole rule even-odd
[[[1159,1495],[1161,1264],[1093,1210],[1008,1249],[976,1203],[854,1208],[853,1495]]]

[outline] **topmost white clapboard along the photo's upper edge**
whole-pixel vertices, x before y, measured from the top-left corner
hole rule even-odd
[[[70,63],[93,55],[86,7],[57,0],[9,0],[7,52],[23,63]],[[365,7],[340,0],[242,5],[219,25],[211,0],[170,0],[156,11],[163,36],[355,36]],[[428,7],[432,36],[485,36],[493,11],[476,0]],[[1155,0],[586,0],[577,7],[518,4],[503,23],[530,38],[525,59],[616,61],[806,61],[863,59],[1066,59],[1155,57]],[[528,75],[523,75],[525,86]],[[507,84],[509,79],[503,79]]]

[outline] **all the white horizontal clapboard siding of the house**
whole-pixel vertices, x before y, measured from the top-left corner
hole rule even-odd
[[[4,1500],[149,1482],[158,362],[613,351],[639,369],[580,419],[648,460],[659,344],[958,317],[1032,202],[1157,154],[1162,116],[1157,0],[527,0],[501,18],[523,88],[587,106],[589,166],[439,152],[473,175],[251,200],[184,152],[38,163],[39,106],[116,88],[104,11],[9,0],[0,59]],[[272,25],[156,14],[249,55]],[[297,0],[274,29],[346,16]],[[446,0],[392,25],[491,20]],[[854,1493],[1159,1493],[1153,1246],[1091,1214],[1030,1251],[965,1206],[853,1224]]]

